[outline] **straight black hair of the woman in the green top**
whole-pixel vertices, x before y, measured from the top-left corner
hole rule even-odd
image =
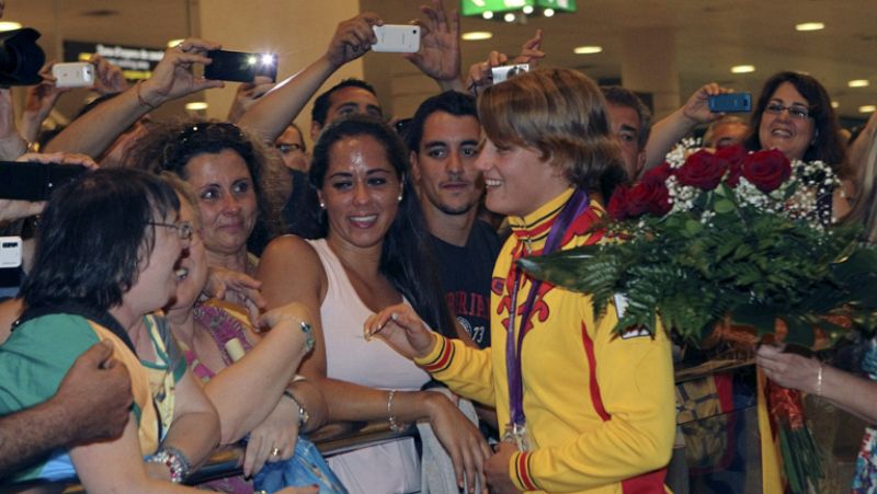
[[[121,305],[155,246],[149,223],[179,209],[173,188],[138,170],[99,170],[58,188],[22,286],[25,305],[78,302],[100,311]]]

